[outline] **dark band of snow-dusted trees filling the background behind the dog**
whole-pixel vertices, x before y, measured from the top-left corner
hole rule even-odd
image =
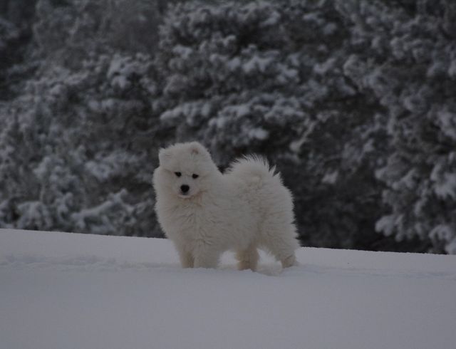
[[[456,254],[452,0],[0,0],[0,227],[162,236],[157,150],[282,172],[305,246]]]

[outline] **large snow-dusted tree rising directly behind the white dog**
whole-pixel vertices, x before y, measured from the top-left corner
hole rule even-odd
[[[160,28],[155,109],[170,141],[196,137],[221,165],[247,152],[278,163],[306,243],[367,245],[385,131],[344,69],[355,49],[330,2],[179,4]]]

